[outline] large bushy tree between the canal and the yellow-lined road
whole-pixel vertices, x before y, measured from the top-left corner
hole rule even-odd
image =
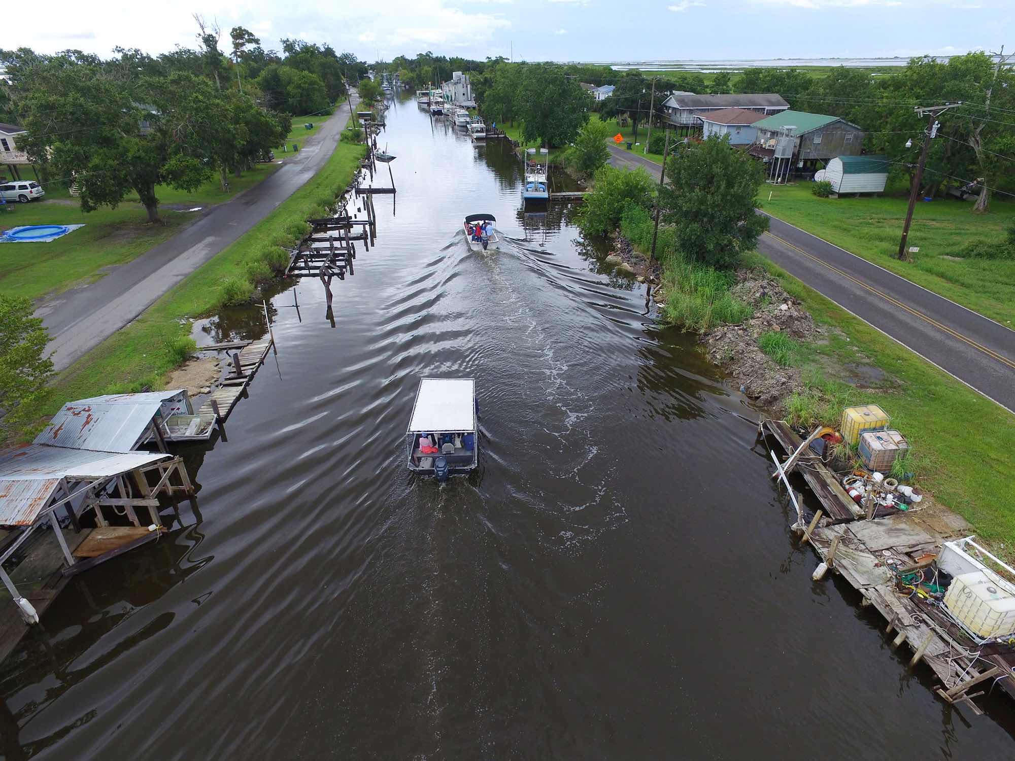
[[[660,210],[674,227],[678,250],[713,267],[733,267],[768,228],[754,211],[764,169],[729,137],[682,143],[666,165]]]

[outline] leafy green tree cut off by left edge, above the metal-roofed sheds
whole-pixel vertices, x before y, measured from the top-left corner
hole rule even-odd
[[[44,356],[50,336],[25,296],[0,293],[0,427],[16,428],[30,414],[53,374],[53,361]]]

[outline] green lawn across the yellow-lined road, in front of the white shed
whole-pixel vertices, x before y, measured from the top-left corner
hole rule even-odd
[[[917,204],[909,246],[912,263],[895,259],[905,218],[904,192],[874,198],[818,198],[811,183],[764,186],[760,206],[772,216],[901,275],[963,306],[1015,325],[1015,260],[949,259],[973,238],[1003,238],[1015,222],[1015,203],[991,200],[991,213],[971,212],[971,202],[935,199]]]

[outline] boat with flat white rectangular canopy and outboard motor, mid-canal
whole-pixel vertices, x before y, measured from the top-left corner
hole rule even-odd
[[[405,434],[409,470],[437,481],[475,470],[478,429],[473,378],[420,378]]]

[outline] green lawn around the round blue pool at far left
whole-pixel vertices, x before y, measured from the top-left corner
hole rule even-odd
[[[0,289],[16,296],[39,298],[78,283],[92,282],[104,267],[125,264],[179,232],[198,218],[163,210],[162,223],[148,224],[144,209],[121,204],[89,214],[52,200],[15,204],[3,212],[0,226],[22,224],[83,224],[52,243],[0,245]]]

